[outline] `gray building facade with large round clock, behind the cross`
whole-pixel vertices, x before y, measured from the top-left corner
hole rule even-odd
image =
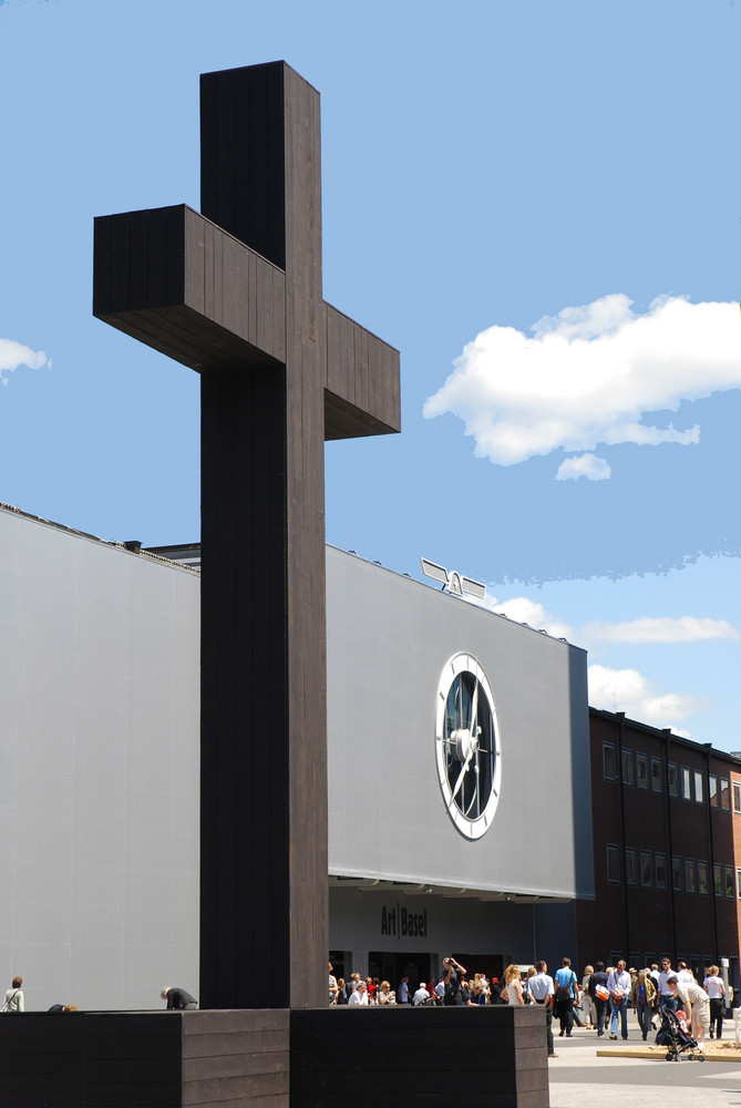
[[[185,550],[177,564],[0,509],[0,965],[30,1008],[197,994],[199,575]],[[338,967],[560,957],[574,900],[594,895],[584,652],[327,558]]]

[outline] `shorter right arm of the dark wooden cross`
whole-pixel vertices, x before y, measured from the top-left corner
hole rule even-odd
[[[399,351],[325,304],[325,439],[401,430]]]

